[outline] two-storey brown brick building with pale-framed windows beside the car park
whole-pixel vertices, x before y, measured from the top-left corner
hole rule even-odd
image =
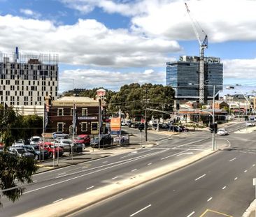
[[[106,107],[104,101],[100,104],[99,100],[89,97],[64,96],[46,104],[49,105],[49,120],[45,128],[47,133],[62,131],[71,135],[73,132],[74,107],[76,110],[76,135],[97,135],[99,133],[99,124],[101,124],[101,132],[104,132],[104,124],[102,124],[102,114],[104,114]]]

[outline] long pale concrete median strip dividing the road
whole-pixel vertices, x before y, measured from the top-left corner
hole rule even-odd
[[[158,177],[162,177],[169,172],[174,170],[178,170],[181,167],[185,167],[191,163],[200,160],[210,154],[213,154],[215,151],[207,150],[203,151],[200,154],[190,156],[189,158],[178,160],[175,163],[171,163],[169,165],[164,165],[154,170],[150,170],[148,172],[143,172],[141,174],[136,175],[133,179],[125,179],[115,182],[113,184],[109,184],[107,186],[103,186],[101,188],[97,188],[91,190],[87,193],[82,193],[80,195],[76,195],[73,197],[69,197],[65,200],[57,202],[56,204],[48,204],[44,207],[40,207],[38,209],[34,209],[25,214],[19,215],[20,217],[39,217],[45,216],[45,212],[47,212],[48,217],[53,216],[67,216],[69,214],[73,214],[76,211],[89,207],[92,204],[97,202],[101,202],[109,197],[117,195],[118,193],[122,193],[125,190],[129,190],[143,184],[145,182],[151,181]]]

